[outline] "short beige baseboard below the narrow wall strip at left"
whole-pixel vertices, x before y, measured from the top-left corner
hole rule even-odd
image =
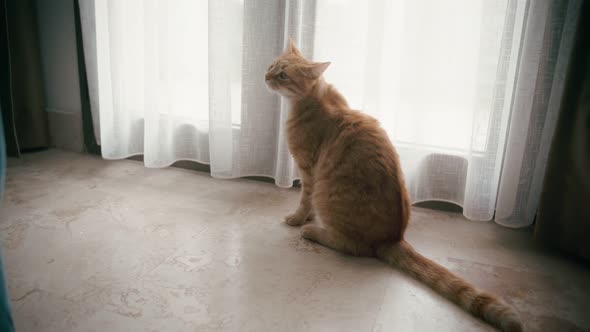
[[[82,113],[47,108],[49,120],[49,143],[51,147],[74,151],[84,151],[82,133]]]

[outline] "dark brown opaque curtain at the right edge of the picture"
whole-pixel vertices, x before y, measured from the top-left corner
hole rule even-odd
[[[579,13],[535,239],[590,261],[590,3]]]

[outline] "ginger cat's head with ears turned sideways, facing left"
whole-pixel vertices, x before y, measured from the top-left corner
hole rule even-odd
[[[268,67],[264,80],[268,88],[285,97],[305,96],[321,79],[329,62],[311,62],[305,59],[293,40]]]

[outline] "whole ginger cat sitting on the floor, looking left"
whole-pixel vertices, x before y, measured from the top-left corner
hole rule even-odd
[[[404,240],[410,216],[397,153],[374,118],[351,110],[322,78],[330,63],[303,58],[292,40],[268,68],[270,90],[292,105],[289,150],[301,201],[286,218],[303,237],[340,252],[378,257],[504,331],[522,331],[512,308],[420,255]],[[308,223],[314,217],[320,224]]]

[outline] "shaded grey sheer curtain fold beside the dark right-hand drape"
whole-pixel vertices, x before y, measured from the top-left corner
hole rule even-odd
[[[581,3],[530,3],[496,206],[501,225],[535,220]]]

